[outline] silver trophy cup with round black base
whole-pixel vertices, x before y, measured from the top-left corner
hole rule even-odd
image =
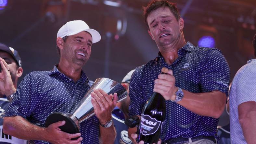
[[[60,126],[59,128],[67,133],[78,133],[80,131],[79,124],[95,114],[91,102],[91,92],[98,88],[104,90],[108,94],[117,93],[117,102],[120,102],[127,97],[127,91],[120,83],[109,78],[97,78],[90,90],[88,90],[83,99],[72,112],[72,114],[58,112],[52,113],[47,117],[45,126],[47,127],[52,123],[65,120],[65,125]]]

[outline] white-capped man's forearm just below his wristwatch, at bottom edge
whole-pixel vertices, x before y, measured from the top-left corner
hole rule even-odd
[[[116,129],[113,124],[109,128],[99,126],[99,132],[100,132],[99,142],[101,144],[103,143],[113,144],[115,142]]]

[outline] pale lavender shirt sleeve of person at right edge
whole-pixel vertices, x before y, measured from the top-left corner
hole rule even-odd
[[[237,105],[248,102],[256,102],[256,64],[246,67],[239,76],[237,80],[236,95],[237,95]]]

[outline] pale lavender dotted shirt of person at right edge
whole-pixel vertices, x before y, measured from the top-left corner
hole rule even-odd
[[[247,144],[238,118],[238,105],[248,101],[256,102],[256,59],[242,66],[235,75],[229,93],[230,136],[232,144]]]

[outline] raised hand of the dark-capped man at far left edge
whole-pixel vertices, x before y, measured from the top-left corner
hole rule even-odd
[[[12,82],[9,66],[1,57],[0,64],[2,67],[2,72],[0,72],[0,91],[2,91],[6,96],[9,96],[15,93],[16,89]]]

